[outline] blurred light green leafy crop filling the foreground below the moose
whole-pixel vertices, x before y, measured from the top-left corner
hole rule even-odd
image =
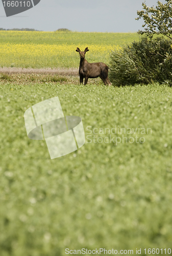
[[[0,81],[1,256],[171,248],[172,89],[18,76]],[[65,116],[82,118],[86,143],[51,160],[45,141],[27,137],[23,114],[55,96]]]

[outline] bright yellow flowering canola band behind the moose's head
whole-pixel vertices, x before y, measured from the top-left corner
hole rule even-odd
[[[50,44],[0,44],[1,67],[22,68],[75,68],[79,66],[79,53],[77,47],[84,51],[85,45],[50,45]],[[114,45],[90,45],[86,59],[89,62],[109,63],[110,53],[119,49]]]

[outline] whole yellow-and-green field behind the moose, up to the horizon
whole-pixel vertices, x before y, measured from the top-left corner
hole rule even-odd
[[[138,40],[137,33],[0,31],[1,67],[78,68],[76,48],[89,62],[109,63],[111,50]]]

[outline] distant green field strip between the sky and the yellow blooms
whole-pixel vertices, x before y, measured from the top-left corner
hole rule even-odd
[[[138,40],[137,33],[0,31],[1,43],[48,45],[124,45]]]

